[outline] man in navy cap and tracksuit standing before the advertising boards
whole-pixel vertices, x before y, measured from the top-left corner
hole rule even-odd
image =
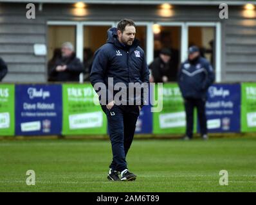
[[[188,49],[188,60],[181,64],[178,73],[178,84],[184,98],[187,129],[185,140],[192,139],[194,124],[194,108],[197,108],[199,126],[203,139],[208,139],[205,115],[207,90],[214,83],[212,65],[199,54],[196,46]]]

